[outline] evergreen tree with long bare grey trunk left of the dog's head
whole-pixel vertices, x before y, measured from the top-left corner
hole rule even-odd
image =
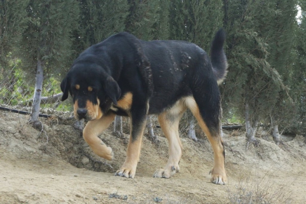
[[[49,73],[59,74],[71,62],[71,31],[77,26],[78,2],[30,0],[30,19],[22,33],[20,51],[24,68],[36,67],[35,92],[30,121],[38,121],[42,83]]]

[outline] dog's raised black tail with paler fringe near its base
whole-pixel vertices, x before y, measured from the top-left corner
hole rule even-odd
[[[223,50],[224,41],[225,32],[223,29],[220,29],[215,35],[210,53],[213,72],[218,84],[223,82],[227,73],[227,59]]]

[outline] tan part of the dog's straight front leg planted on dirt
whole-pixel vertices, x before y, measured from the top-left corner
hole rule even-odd
[[[132,121],[131,121],[131,126],[132,126]],[[132,134],[130,135],[129,144],[127,145],[127,150],[126,150],[126,159],[122,167],[115,173],[115,175],[134,179],[136,168],[137,168],[137,163],[139,162],[139,158],[140,158],[140,150],[141,150],[141,143],[142,143],[142,136],[143,136],[144,128],[145,128],[145,121],[143,122],[141,126],[139,135],[135,137],[136,140],[133,141]],[[131,133],[132,132],[133,131],[131,128]]]

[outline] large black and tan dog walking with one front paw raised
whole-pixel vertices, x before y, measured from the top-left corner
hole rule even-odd
[[[107,129],[115,115],[131,118],[126,159],[115,175],[135,176],[147,114],[158,115],[169,141],[168,163],[154,177],[169,178],[178,172],[183,150],[179,121],[189,108],[213,147],[211,181],[226,183],[218,88],[227,67],[224,40],[225,34],[219,30],[209,59],[193,43],[147,42],[129,33],[119,33],[89,47],[74,61],[61,83],[62,100],[67,99],[69,92],[75,118],[88,120],[83,137],[95,154],[112,160],[112,148],[97,136]]]

